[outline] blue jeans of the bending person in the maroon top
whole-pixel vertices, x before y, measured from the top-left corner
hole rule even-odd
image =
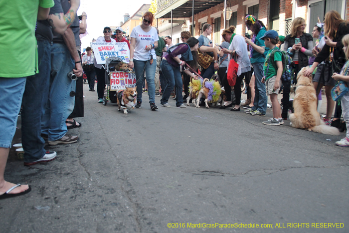
[[[164,75],[168,78],[168,83],[165,87],[163,98],[161,98],[161,104],[166,104],[169,101],[171,91],[174,89],[175,84],[175,93],[176,93],[176,101],[175,105],[178,107],[183,103],[183,82],[182,76],[180,75],[179,66],[174,67],[165,59],[161,62],[161,70]]]

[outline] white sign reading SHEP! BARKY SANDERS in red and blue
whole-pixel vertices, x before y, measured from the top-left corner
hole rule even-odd
[[[130,49],[126,42],[91,43],[97,64],[105,64],[108,57],[119,57],[129,63]]]

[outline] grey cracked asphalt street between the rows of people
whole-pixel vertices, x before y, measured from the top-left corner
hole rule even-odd
[[[77,143],[47,146],[57,158],[30,167],[11,149],[5,179],[32,191],[0,201],[0,233],[349,232],[344,133],[263,125],[271,109],[177,108],[172,97],[171,108],[156,97],[154,112],[148,93],[126,115],[84,91]]]

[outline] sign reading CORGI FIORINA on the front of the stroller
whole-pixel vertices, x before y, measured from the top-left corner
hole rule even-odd
[[[124,71],[110,72],[110,90],[117,91],[126,87],[136,87],[136,74]]]

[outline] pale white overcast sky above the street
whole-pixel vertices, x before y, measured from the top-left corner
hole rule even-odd
[[[120,26],[124,14],[132,16],[143,4],[151,0],[81,0],[78,15],[87,14],[87,36],[81,39],[81,49],[90,46],[93,38],[103,36],[105,26]]]

